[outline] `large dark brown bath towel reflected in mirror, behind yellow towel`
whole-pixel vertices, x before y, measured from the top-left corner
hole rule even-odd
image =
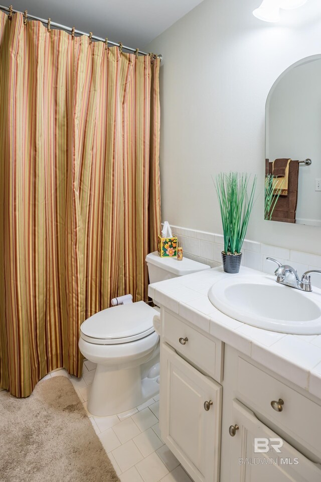
[[[272,214],[272,221],[295,222],[297,204],[297,185],[299,175],[298,161],[290,161],[288,175],[288,194],[279,196]]]

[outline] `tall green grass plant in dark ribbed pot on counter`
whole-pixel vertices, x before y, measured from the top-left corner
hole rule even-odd
[[[256,187],[256,176],[251,183],[250,177],[249,174],[238,172],[221,172],[216,177],[215,188],[224,236],[222,261],[226,273],[240,271],[241,248],[253,207]]]

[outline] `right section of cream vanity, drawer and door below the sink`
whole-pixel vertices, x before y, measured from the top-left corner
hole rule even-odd
[[[321,406],[226,346],[221,482],[321,481]]]

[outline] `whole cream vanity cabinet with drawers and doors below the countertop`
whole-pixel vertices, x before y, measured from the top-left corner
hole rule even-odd
[[[321,401],[191,320],[162,308],[159,424],[194,482],[321,482]]]

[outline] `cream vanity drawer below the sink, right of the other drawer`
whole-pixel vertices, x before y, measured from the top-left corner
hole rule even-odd
[[[321,457],[321,406],[243,358],[238,359],[237,391],[246,405]],[[281,399],[278,411],[277,402]],[[271,402],[275,401],[275,408]]]

